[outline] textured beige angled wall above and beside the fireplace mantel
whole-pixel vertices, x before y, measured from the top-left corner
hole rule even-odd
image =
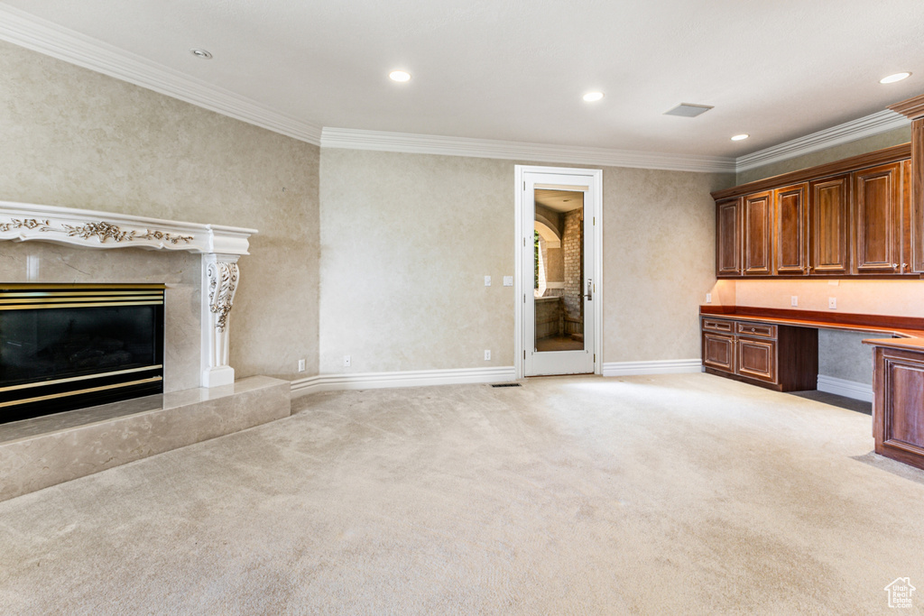
[[[317,370],[319,149],[0,42],[0,199],[254,227],[237,377]]]

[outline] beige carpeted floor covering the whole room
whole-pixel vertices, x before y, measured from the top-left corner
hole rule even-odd
[[[888,613],[899,576],[924,595],[924,472],[871,454],[860,413],[706,374],[295,406],[0,502],[0,613]]]

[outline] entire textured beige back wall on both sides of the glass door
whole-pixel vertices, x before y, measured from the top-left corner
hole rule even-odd
[[[322,373],[513,365],[514,165],[322,150]],[[733,181],[604,169],[603,361],[699,356],[709,193]]]

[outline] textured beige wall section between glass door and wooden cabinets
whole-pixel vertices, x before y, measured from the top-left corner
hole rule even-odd
[[[716,282],[710,192],[733,182],[604,168],[604,361],[699,357],[699,304]]]

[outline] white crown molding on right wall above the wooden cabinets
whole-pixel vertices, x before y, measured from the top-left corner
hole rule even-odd
[[[736,171],[740,173],[765,164],[779,163],[796,156],[825,150],[857,139],[872,137],[910,124],[911,121],[903,115],[898,115],[888,110],[866,115],[856,120],[839,124],[836,127],[825,128],[817,133],[780,143],[771,148],[739,156],[736,159]]]

